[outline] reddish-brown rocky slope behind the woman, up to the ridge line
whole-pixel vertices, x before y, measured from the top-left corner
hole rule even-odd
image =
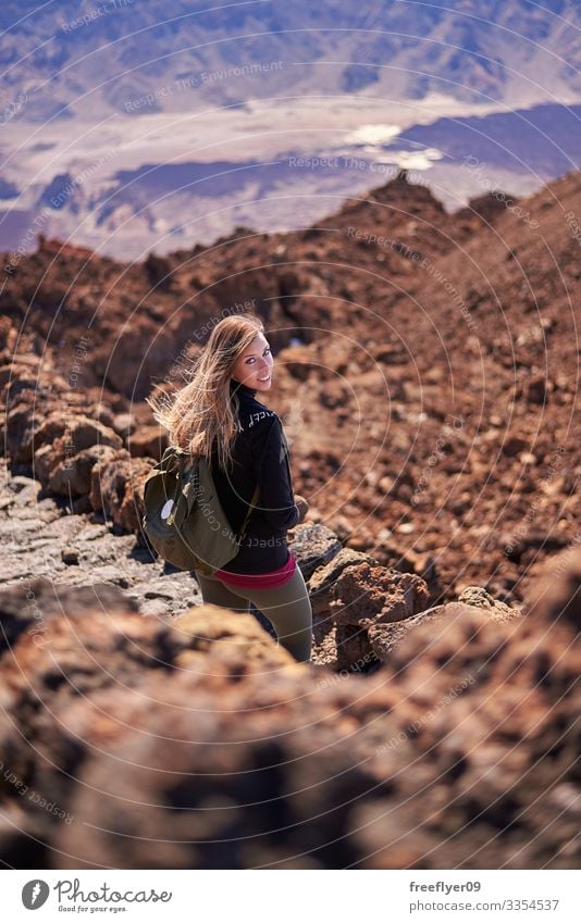
[[[134,529],[121,482],[164,445],[141,398],[153,382],[180,384],[218,320],[250,308],[275,350],[265,400],[285,420],[313,522],[423,574],[443,599],[479,584],[518,604],[578,528],[574,215],[579,173],[453,216],[401,176],[301,233],[240,229],[131,266],[46,240],[16,264],[7,255],[7,440],[24,465],[13,473],[34,463],[85,511],[104,484],[106,513]],[[63,406],[74,416],[87,401],[101,425],[71,424],[65,449]]]

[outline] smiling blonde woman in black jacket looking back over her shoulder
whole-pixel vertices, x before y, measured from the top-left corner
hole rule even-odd
[[[211,577],[194,572],[202,599],[236,612],[250,602],[272,622],[296,660],[309,661],[312,609],[286,533],[302,522],[308,503],[295,497],[281,419],[257,400],[272,385],[273,358],[255,314],[220,321],[189,383],[170,404],[148,398],[170,442],[203,453],[231,528],[240,529],[258,484],[258,503],[232,561]]]

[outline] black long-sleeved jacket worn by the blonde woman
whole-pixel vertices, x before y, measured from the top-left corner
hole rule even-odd
[[[212,451],[212,476],[234,532],[242,527],[257,484],[259,495],[240,550],[222,570],[261,574],[286,564],[286,533],[297,525],[300,512],[294,500],[288,446],[280,416],[256,400],[256,390],[233,378],[234,395],[239,408],[233,469],[224,472],[218,464],[215,446]]]

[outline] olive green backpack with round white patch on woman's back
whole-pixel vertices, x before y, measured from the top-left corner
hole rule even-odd
[[[238,553],[257,501],[258,485],[236,535],[220,503],[207,460],[193,461],[188,452],[170,446],[144,483],[141,525],[160,558],[181,571],[211,576]]]

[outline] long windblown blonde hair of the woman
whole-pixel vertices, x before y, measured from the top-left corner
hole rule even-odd
[[[251,312],[224,317],[186,373],[187,385],[173,394],[162,391],[146,398],[172,446],[210,461],[215,438],[220,467],[225,471],[232,466],[232,447],[238,432],[238,398],[230,390],[232,370],[255,337],[263,333],[261,319]]]

